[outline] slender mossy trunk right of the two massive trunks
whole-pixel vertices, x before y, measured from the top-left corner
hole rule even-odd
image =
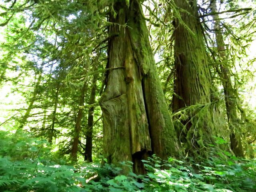
[[[217,12],[216,0],[211,2],[212,12]],[[218,48],[218,54],[220,56],[220,68],[221,68],[221,80],[222,86],[225,94],[225,103],[226,103],[226,112],[228,117],[228,123],[230,128],[230,146],[234,154],[238,157],[244,156],[244,151],[242,147],[242,141],[239,132],[238,118],[236,113],[236,96],[235,90],[232,86],[230,78],[230,70],[228,68],[227,57],[226,57],[226,48],[224,43],[224,38],[222,35],[222,29],[220,25],[220,20],[218,15],[213,15],[214,20],[214,32],[216,38],[216,44]]]

